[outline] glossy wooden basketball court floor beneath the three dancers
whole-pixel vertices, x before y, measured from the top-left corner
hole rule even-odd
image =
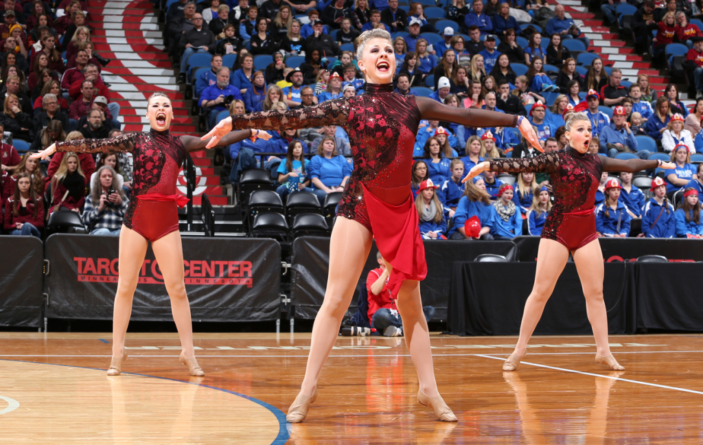
[[[591,337],[534,337],[516,373],[515,337],[432,335],[444,399],[417,404],[397,338],[340,337],[305,423],[285,423],[309,334],[196,334],[190,378],[172,334],[130,334],[108,377],[109,334],[0,333],[4,444],[703,444],[703,335],[611,337],[626,371],[593,361]]]

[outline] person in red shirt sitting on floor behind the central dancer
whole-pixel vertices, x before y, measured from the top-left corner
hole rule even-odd
[[[403,335],[403,321],[400,318],[391,291],[386,287],[389,273],[386,262],[380,252],[376,253],[378,269],[373,269],[366,278],[368,292],[368,320],[385,337],[400,337]],[[423,307],[425,320],[430,321],[434,316],[432,306]]]

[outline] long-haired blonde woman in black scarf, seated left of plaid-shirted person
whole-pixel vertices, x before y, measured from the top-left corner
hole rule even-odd
[[[88,179],[83,174],[78,155],[72,152],[65,153],[56,174],[51,177],[49,213],[60,209],[80,213],[85,202],[86,186],[88,186]]]

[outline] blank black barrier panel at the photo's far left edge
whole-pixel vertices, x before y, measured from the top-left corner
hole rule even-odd
[[[33,236],[0,236],[0,326],[38,328],[44,245]]]

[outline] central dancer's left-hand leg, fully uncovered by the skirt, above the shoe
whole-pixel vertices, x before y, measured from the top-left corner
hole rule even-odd
[[[315,317],[305,378],[300,394],[310,396],[317,387],[322,367],[340,332],[344,313],[354,296],[356,283],[371,249],[370,231],[356,221],[337,218],[330,239],[330,271],[327,290]]]

